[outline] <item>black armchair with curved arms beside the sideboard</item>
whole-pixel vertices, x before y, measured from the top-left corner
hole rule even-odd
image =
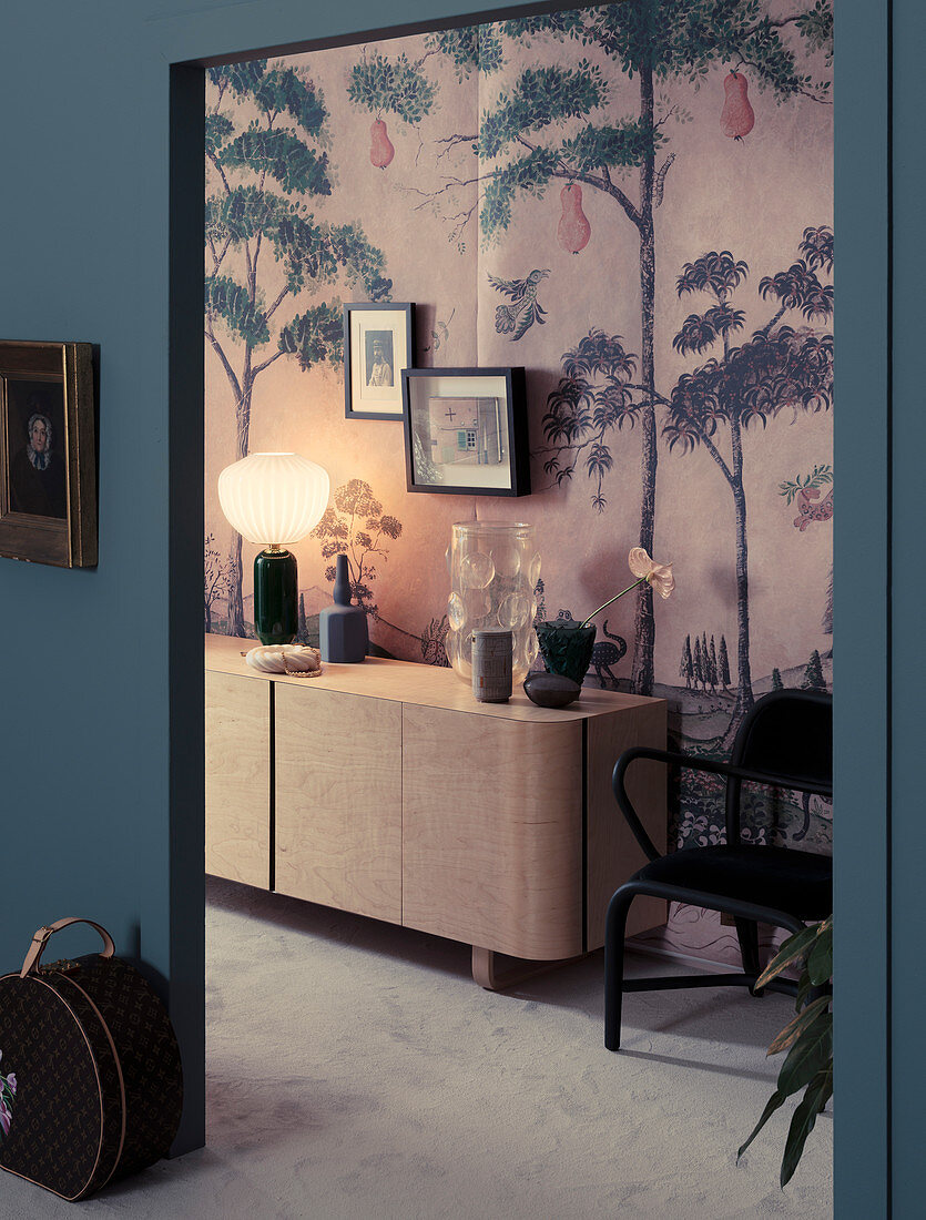
[[[726,843],[688,847],[660,855],[625,788],[627,767],[636,759],[655,759],[726,776]],[[645,748],[627,750],[617,759],[614,794],[650,863],[621,886],[608,906],[604,1042],[609,1050],[617,1050],[621,1044],[623,992],[739,986],[760,996],[755,989],[760,974],[758,924],[799,932],[806,921],[821,920],[832,913],[832,860],[828,855],[743,843],[739,817],[743,782],[831,798],[832,697],[816,691],[773,691],[759,699],[739,726],[730,762]],[[653,894],[733,915],[743,972],[625,980],[625,928],[627,911],[637,894]],[[797,994],[797,985],[787,978],[772,980],[767,987]]]

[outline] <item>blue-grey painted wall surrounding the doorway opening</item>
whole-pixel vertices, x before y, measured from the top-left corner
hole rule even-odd
[[[886,1215],[888,1177],[897,1215],[914,1214],[922,1198],[915,1126],[898,1118],[893,1161],[882,1136],[888,1105],[916,1114],[924,1092],[916,1050],[924,838],[915,824],[922,716],[915,709],[924,686],[926,415],[915,316],[926,243],[916,215],[924,198],[916,7],[915,0],[893,6],[894,121],[903,138],[893,283],[888,5],[841,0],[837,17],[841,1218]],[[35,927],[71,913],[90,914],[123,952],[140,953],[168,986],[181,1030],[185,1147],[203,1131],[201,168],[198,73],[174,72],[172,93],[170,66],[472,15],[464,0],[6,0],[0,13],[0,336],[83,339],[101,353],[100,565],[61,571],[0,560],[0,966],[18,964]],[[903,336],[893,353],[893,423],[891,290]],[[891,525],[904,578],[889,604]]]

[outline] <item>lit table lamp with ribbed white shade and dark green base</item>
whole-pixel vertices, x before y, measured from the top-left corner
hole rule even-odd
[[[314,529],[328,503],[328,472],[300,454],[249,454],[218,476],[218,503],[254,560],[254,627],[262,644],[289,644],[299,630],[295,555],[289,543]]]

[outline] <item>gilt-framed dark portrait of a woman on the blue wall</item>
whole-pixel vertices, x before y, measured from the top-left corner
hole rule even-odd
[[[0,342],[0,555],[96,562],[89,343]]]

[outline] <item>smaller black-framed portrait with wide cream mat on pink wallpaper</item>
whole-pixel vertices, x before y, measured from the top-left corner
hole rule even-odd
[[[344,306],[344,414],[400,420],[401,373],[415,364],[415,306]]]

